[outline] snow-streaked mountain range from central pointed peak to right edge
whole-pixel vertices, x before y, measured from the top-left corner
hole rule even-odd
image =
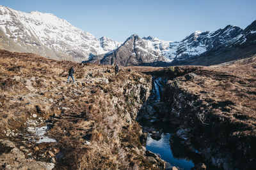
[[[166,63],[163,64],[163,62],[171,62],[169,65],[172,63],[184,64],[187,60],[205,55],[205,53],[224,50],[223,47],[225,46],[244,46],[249,41],[249,44],[252,44],[256,41],[255,25],[256,21],[244,30],[237,26],[227,25],[224,29],[218,29],[214,32],[195,31],[182,41],[175,42],[159,40],[152,36],[140,38],[134,34],[119,48],[105,55],[97,55],[88,62],[121,64],[123,66],[138,64],[166,66]],[[223,60],[225,60],[224,58],[232,59],[232,57],[227,56],[223,57]],[[221,62],[221,60],[218,61]],[[157,62],[159,62],[158,65]],[[200,61],[193,64],[200,65]]]

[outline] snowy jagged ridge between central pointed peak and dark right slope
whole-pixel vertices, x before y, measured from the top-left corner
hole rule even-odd
[[[214,32],[195,31],[182,41],[163,41],[157,38],[143,38],[148,40],[148,44],[154,46],[154,50],[161,53],[164,58],[169,60],[182,60],[188,57],[195,57],[207,50],[216,48],[225,41],[235,38],[243,31],[239,27],[228,25],[225,29]]]

